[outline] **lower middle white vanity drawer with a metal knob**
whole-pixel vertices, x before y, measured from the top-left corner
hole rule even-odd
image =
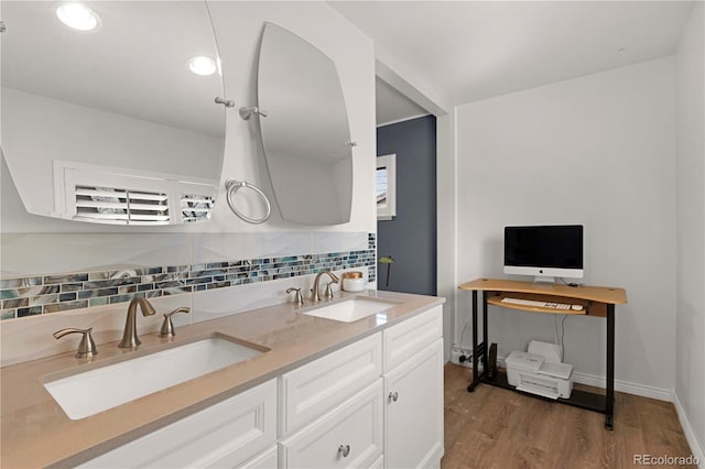
[[[280,443],[285,468],[369,468],[382,456],[382,380]]]

